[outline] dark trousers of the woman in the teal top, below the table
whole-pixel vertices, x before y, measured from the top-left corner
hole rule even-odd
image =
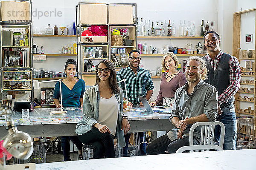
[[[82,150],[82,143],[79,141],[77,136],[62,136],[61,147],[63,151],[64,161],[71,161],[70,159],[70,141],[76,144],[78,150]]]

